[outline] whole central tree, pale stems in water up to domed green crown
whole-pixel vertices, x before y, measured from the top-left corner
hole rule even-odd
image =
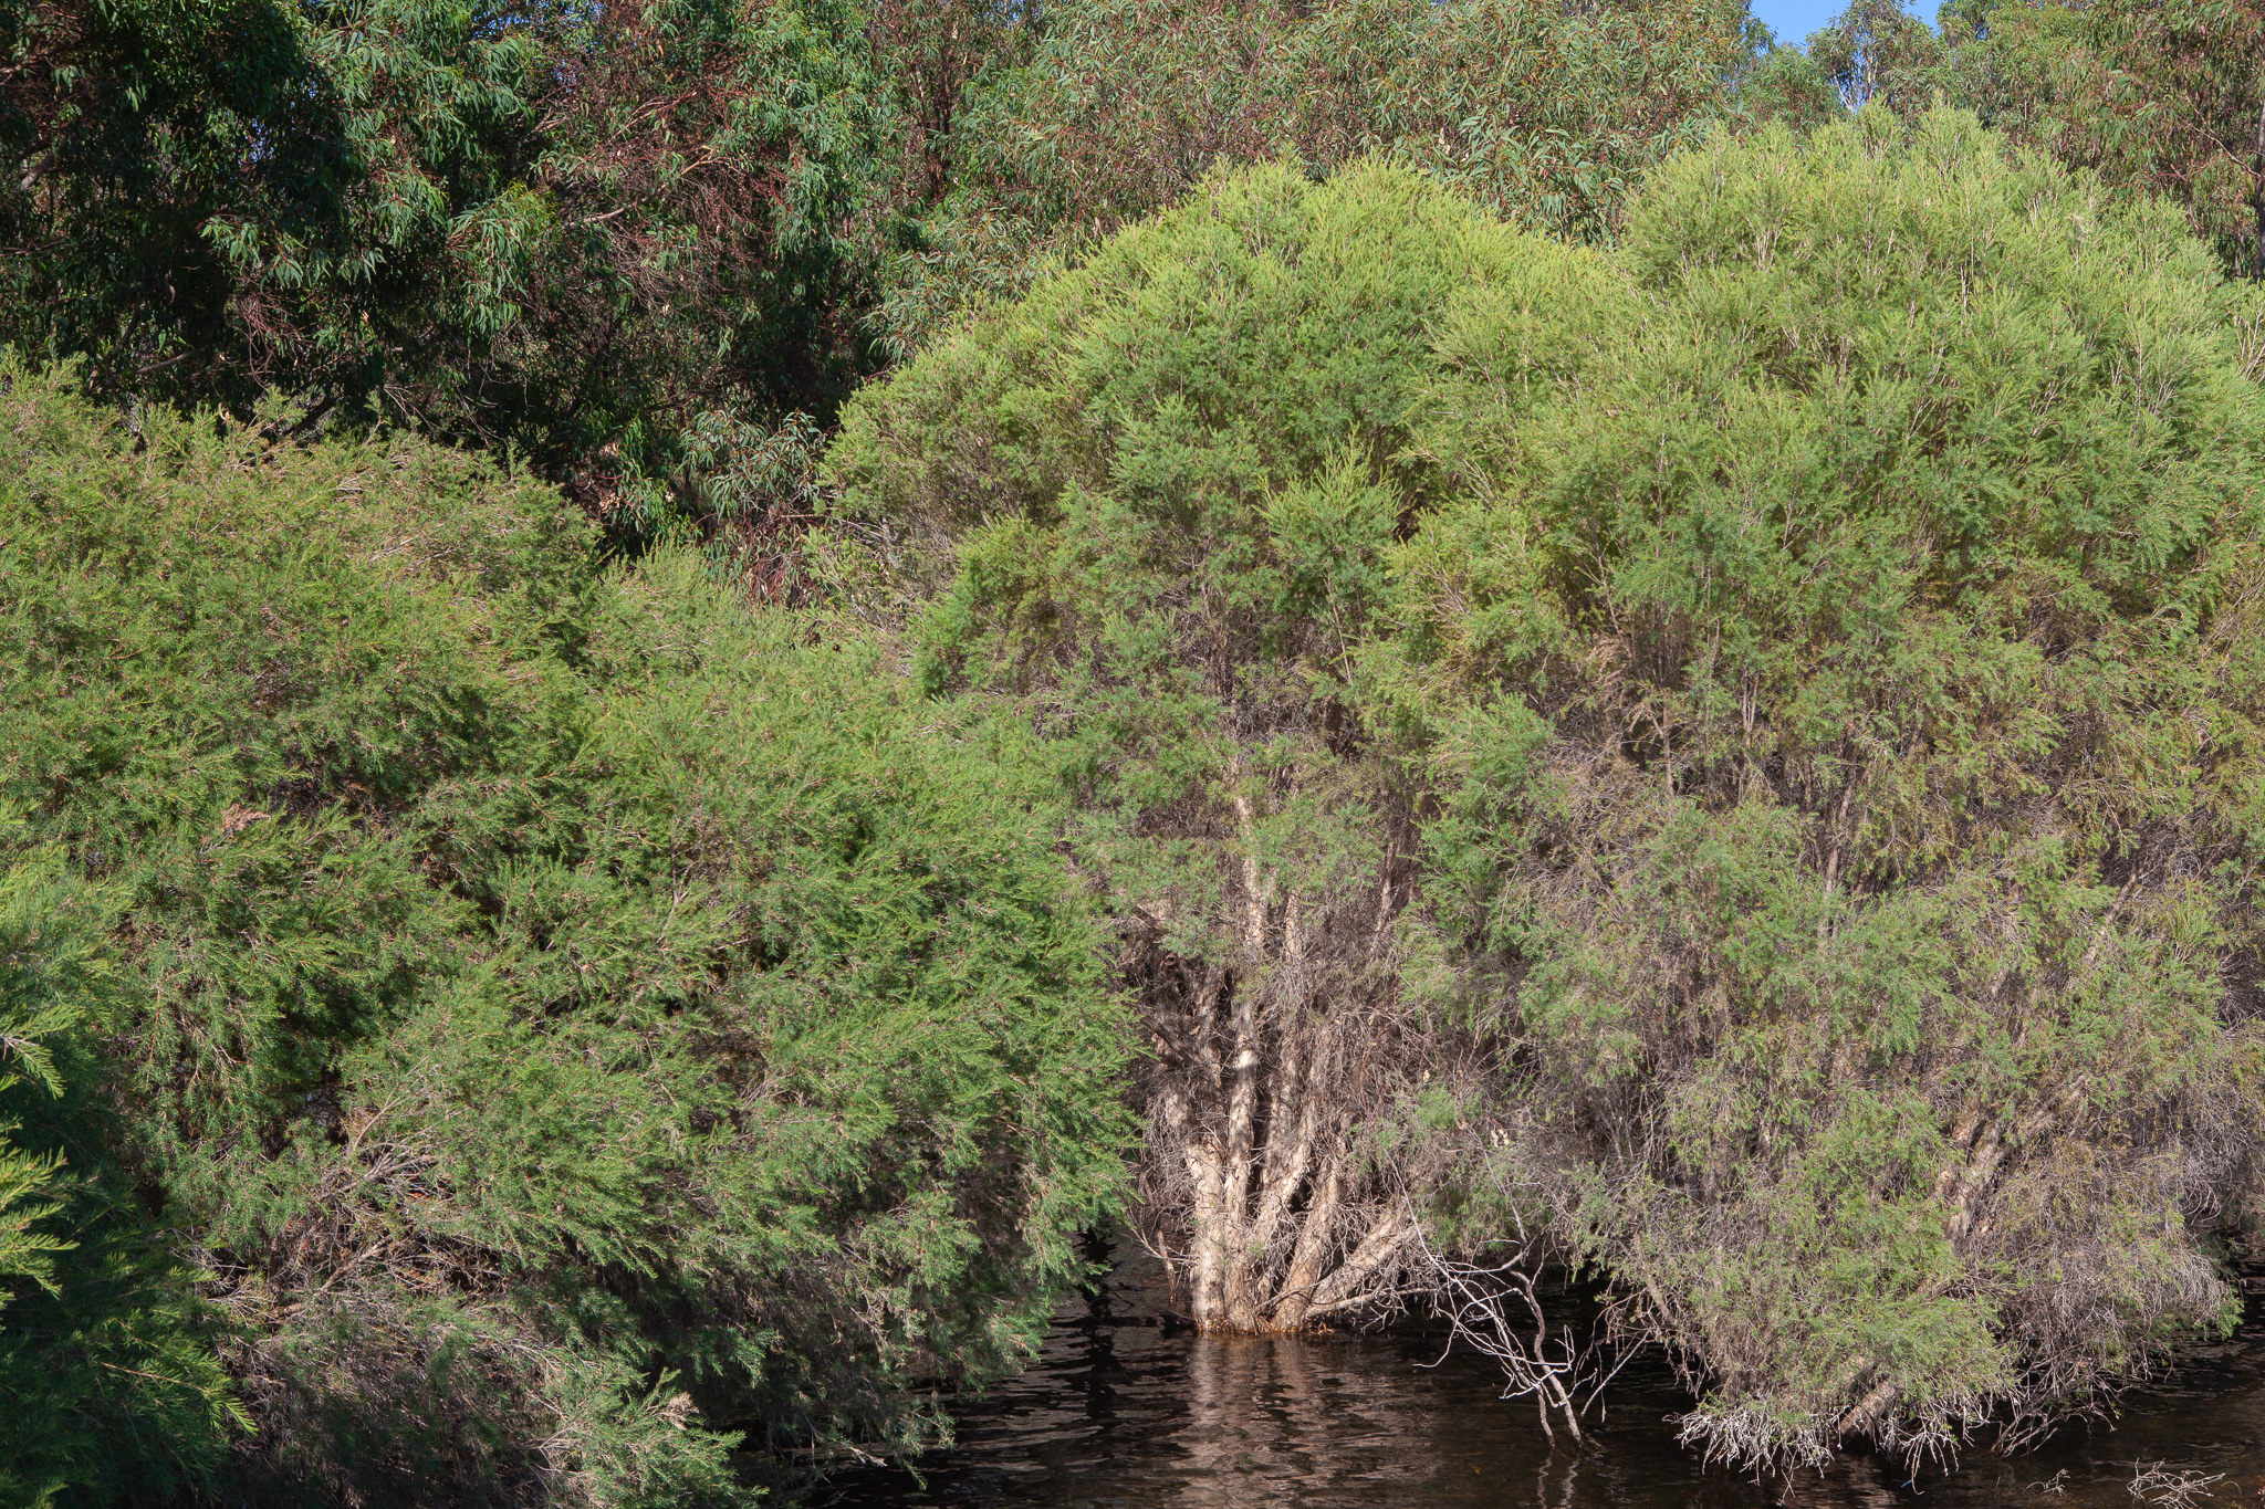
[[[1484,1054],[1404,1009],[1422,794],[1364,647],[1438,500],[1436,324],[1493,290],[1579,362],[1597,267],[1409,170],[1221,172],[861,394],[829,455],[879,543],[845,590],[1074,803],[1155,1043],[1142,1219],[1207,1326],[1375,1312],[1422,1262],[1418,1102]]]

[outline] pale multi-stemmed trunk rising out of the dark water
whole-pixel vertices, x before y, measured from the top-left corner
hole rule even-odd
[[[1146,1088],[1146,1238],[1205,1330],[1300,1330],[1388,1308],[1420,1251],[1416,1213],[1357,1133],[1422,1072],[1393,1009],[1391,862],[1325,905],[1250,857],[1228,887],[1232,941],[1132,957],[1155,1047]]]

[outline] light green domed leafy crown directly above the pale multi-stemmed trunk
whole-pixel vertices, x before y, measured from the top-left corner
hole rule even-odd
[[[1223,796],[1246,760],[1253,790],[1330,785],[1325,706],[1434,484],[1402,455],[1427,326],[1561,260],[1418,174],[1259,167],[861,394],[829,468],[906,527],[929,685],[1060,708],[1087,821]]]

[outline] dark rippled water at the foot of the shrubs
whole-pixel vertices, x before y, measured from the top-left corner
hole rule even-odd
[[[1067,1305],[1037,1364],[958,1409],[958,1446],[920,1475],[836,1475],[824,1509],[1243,1509],[1366,1504],[1629,1509],[1696,1504],[2052,1504],[2134,1509],[2138,1464],[2224,1473],[2193,1504],[2265,1504],[2265,1328],[2131,1394],[2113,1428],[2014,1459],[1973,1452],[1916,1484],[1873,1457],[1755,1484],[1708,1471],[1663,1419],[1687,1407],[1665,1371],[1629,1373],[1588,1450],[1549,1448],[1531,1400],[1502,1400],[1481,1357],[1438,1362],[1420,1330],[1198,1337],[1123,1323],[1169,1303],[1151,1265],[1101,1305]],[[1425,1366],[1434,1364],[1438,1366]],[[1631,1369],[1633,1371],[1633,1369]]]

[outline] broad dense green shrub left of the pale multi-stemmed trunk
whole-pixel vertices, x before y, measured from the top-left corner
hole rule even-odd
[[[86,1072],[233,1321],[229,1495],[931,1439],[1121,1179],[1026,756],[695,557],[593,575],[541,486],[263,419],[14,373],[0,486],[0,799],[118,903]]]

